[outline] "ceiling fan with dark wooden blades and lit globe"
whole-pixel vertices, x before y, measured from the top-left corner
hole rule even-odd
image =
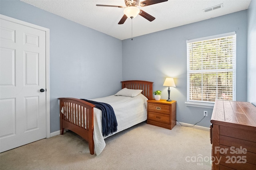
[[[118,22],[118,24],[123,24],[128,17],[132,19],[132,18],[135,18],[138,14],[140,16],[146,18],[148,21],[153,21],[156,18],[154,18],[150,14],[144,12],[143,10],[140,10],[137,6],[144,7],[144,6],[158,4],[158,3],[166,2],[166,1],[168,1],[168,0],[144,0],[142,2],[140,2],[140,0],[124,0],[124,3],[126,6],[99,5],[99,4],[97,4],[96,6],[125,8],[124,16]]]

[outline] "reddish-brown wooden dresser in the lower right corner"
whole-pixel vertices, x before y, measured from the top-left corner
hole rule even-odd
[[[211,123],[212,170],[255,170],[256,107],[216,100]]]

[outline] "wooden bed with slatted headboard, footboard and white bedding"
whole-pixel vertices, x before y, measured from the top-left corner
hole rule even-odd
[[[153,82],[128,80],[121,83],[122,89],[118,93],[104,98],[90,99],[110,104],[113,107],[118,123],[115,133],[146,121],[146,101],[153,98]],[[140,90],[139,94],[138,90]],[[128,95],[126,95],[127,92]],[[60,100],[60,134],[63,135],[64,129],[73,131],[88,141],[90,154],[94,152],[96,155],[100,154],[106,146],[104,139],[115,134],[102,135],[101,110],[94,104],[81,99],[58,99]]]

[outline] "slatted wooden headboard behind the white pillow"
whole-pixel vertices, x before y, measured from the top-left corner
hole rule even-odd
[[[148,100],[153,99],[153,83],[148,81],[141,81],[141,80],[128,80],[122,81],[122,88],[129,88],[129,89],[139,89],[142,90],[142,94],[148,98]]]

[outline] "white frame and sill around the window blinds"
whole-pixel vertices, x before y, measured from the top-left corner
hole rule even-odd
[[[200,42],[200,41],[209,41],[209,40],[213,40],[213,39],[220,39],[222,37],[230,37],[230,36],[234,36],[234,45],[233,45],[233,61],[234,64],[232,65],[232,70],[233,71],[233,75],[232,75],[232,100],[236,100],[236,32],[230,32],[230,33],[224,33],[224,34],[219,34],[219,35],[213,35],[213,36],[209,36],[209,37],[202,37],[202,38],[198,38],[198,39],[191,39],[191,40],[187,40],[187,102],[185,102],[186,106],[194,106],[194,107],[205,107],[205,108],[213,108],[215,101],[203,101],[203,100],[190,100],[190,73],[194,73],[194,72],[198,72],[201,73],[203,75],[203,73],[205,72],[218,72],[221,69],[199,69],[199,70],[192,70],[190,69],[190,43],[196,43],[196,42]],[[203,57],[202,57],[203,59]],[[202,64],[203,66],[203,64]],[[218,71],[216,71],[218,70]],[[223,69],[223,70],[228,70],[228,69]],[[203,81],[201,80],[202,84]],[[216,86],[218,87],[218,85]],[[203,90],[203,89],[202,89]],[[218,95],[218,92],[216,91],[216,95]],[[218,97],[217,97],[218,98]]]

